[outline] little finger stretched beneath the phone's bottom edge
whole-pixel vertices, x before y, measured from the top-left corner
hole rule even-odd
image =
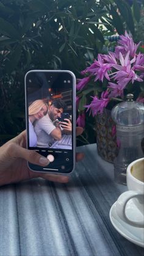
[[[46,180],[49,181],[54,181],[54,182],[60,182],[60,183],[68,183],[69,177],[68,176],[63,176],[63,175],[57,175],[57,174],[40,174],[39,177],[45,178]]]

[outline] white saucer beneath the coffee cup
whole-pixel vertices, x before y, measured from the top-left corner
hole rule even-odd
[[[133,227],[132,225],[129,225],[126,222],[122,221],[118,217],[117,210],[116,210],[116,203],[117,202],[113,203],[109,213],[110,221],[112,222],[113,227],[115,227],[115,229],[122,236],[124,236],[124,238],[128,239],[134,244],[137,244],[138,246],[144,247],[144,229],[139,227]],[[131,208],[131,205],[129,205],[129,208]],[[132,215],[135,215],[134,208],[132,209],[131,212],[132,212]]]

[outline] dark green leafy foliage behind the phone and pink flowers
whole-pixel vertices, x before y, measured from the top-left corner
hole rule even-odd
[[[0,144],[25,129],[28,70],[66,69],[81,77],[80,71],[98,53],[113,46],[107,36],[123,34],[125,29],[135,34],[141,4],[136,0],[1,0]],[[95,141],[94,120],[88,115],[86,120],[77,144]]]

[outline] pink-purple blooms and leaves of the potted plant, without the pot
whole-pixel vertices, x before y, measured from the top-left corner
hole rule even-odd
[[[93,117],[123,101],[133,93],[134,100],[144,103],[144,54],[137,53],[140,42],[134,43],[130,34],[120,36],[114,52],[98,54],[98,59],[81,72],[77,79],[77,124],[85,126],[85,111]],[[93,95],[92,95],[93,93]],[[84,105],[80,106],[80,102]]]

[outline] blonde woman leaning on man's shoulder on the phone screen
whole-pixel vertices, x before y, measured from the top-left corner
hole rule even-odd
[[[37,135],[35,134],[33,123],[35,120],[44,117],[47,111],[48,106],[43,100],[35,100],[29,106],[29,147],[37,146]]]

